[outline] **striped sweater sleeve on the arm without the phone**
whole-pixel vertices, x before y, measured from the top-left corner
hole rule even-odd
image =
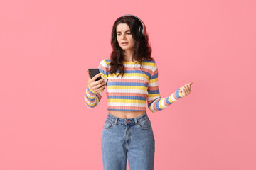
[[[171,96],[161,98],[160,91],[159,91],[159,85],[158,85],[158,68],[155,63],[154,68],[151,72],[151,77],[149,80],[149,86],[148,86],[148,98],[147,103],[149,110],[152,112],[161,111],[167,106],[171,105],[171,103],[174,103],[179,98],[182,98],[181,92],[178,92],[180,88],[178,88]]]

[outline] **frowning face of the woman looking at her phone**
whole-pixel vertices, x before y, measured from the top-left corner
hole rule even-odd
[[[134,49],[135,42],[127,23],[119,23],[117,25],[117,42],[122,50]],[[123,42],[125,43],[123,44]]]

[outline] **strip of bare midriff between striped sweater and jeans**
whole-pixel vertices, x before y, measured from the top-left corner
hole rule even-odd
[[[108,111],[111,115],[114,115],[117,118],[129,119],[129,118],[137,118],[140,115],[143,115],[146,111]]]

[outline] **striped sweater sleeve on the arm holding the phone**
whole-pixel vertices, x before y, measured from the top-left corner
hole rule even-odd
[[[107,83],[107,64],[105,60],[102,60],[99,64],[99,66],[97,67],[97,69],[99,69],[100,72],[102,72],[102,79],[104,79],[105,83]],[[106,86],[105,86],[106,87]],[[100,91],[92,91],[92,89],[90,89],[90,86],[87,85],[87,88],[85,90],[85,103],[87,108],[95,108],[96,106],[99,105],[100,100],[102,98],[102,93],[105,89],[105,87],[103,89],[101,89]]]

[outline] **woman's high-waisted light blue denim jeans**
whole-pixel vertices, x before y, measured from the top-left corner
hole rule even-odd
[[[101,138],[104,170],[153,170],[155,140],[146,112],[122,119],[108,113]]]

